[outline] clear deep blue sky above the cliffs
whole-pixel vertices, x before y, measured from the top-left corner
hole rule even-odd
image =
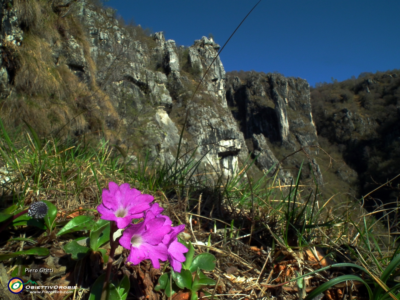
[[[109,0],[166,39],[190,46],[210,33],[221,46],[257,3],[236,0]],[[400,69],[400,1],[262,0],[228,45],[226,71],[278,71],[316,82]]]

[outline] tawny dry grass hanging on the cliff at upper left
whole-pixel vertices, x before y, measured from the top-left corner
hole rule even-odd
[[[68,12],[76,10],[76,5]],[[21,46],[3,43],[16,66],[15,76],[10,78],[10,95],[1,103],[4,123],[16,128],[24,119],[41,136],[85,132],[98,137],[104,120],[113,124],[118,116],[108,95],[95,82],[96,66],[80,21],[71,13],[57,13],[51,3],[42,0],[16,0],[14,9],[24,36]],[[82,48],[88,82],[70,70],[62,55],[70,37]],[[118,142],[118,132],[108,130],[105,135]]]

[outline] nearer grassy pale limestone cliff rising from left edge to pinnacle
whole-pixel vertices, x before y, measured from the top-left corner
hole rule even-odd
[[[203,37],[177,48],[162,32],[147,36],[89,2],[1,4],[0,92],[8,125],[18,126],[23,110],[42,136],[104,135],[137,152],[148,149],[152,159],[174,161],[190,98],[218,44]],[[248,149],[224,87],[218,58],[190,104],[181,154],[198,147],[199,172],[227,176]]]

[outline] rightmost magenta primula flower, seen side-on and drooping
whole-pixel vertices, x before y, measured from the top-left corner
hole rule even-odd
[[[180,273],[182,269],[182,262],[186,260],[184,253],[188,252],[189,249],[183,244],[178,242],[178,234],[185,230],[185,224],[172,227],[169,234],[167,234],[162,242],[168,247],[168,261],[175,272]]]

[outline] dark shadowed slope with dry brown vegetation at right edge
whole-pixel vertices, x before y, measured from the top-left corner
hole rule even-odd
[[[400,71],[321,83],[311,90],[311,101],[318,136],[336,146],[346,164],[357,171],[360,194],[399,174]],[[396,207],[399,183],[393,180],[371,196]]]

